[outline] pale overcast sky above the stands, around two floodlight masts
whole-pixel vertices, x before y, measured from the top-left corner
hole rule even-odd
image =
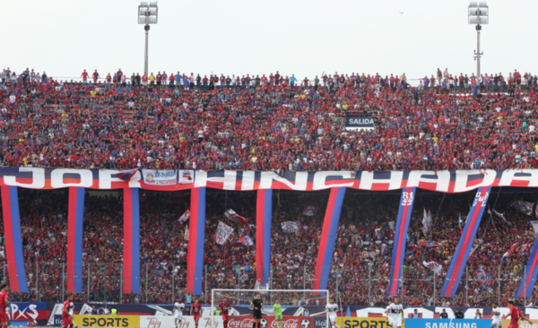
[[[2,0],[2,68],[56,78],[143,73],[139,1]],[[475,73],[463,0],[161,0],[149,70],[181,73]],[[536,69],[537,0],[490,0],[482,73]],[[404,12],[401,14],[401,12]]]

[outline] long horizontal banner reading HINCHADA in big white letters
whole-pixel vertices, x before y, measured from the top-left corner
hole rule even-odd
[[[10,167],[0,170],[0,186],[19,186],[30,189],[57,189],[69,186],[91,189],[132,187],[163,191],[191,189],[193,187],[238,191],[260,188],[316,191],[334,187],[384,191],[398,190],[403,187],[418,187],[440,193],[464,193],[487,186],[538,186],[538,169],[536,168],[405,172],[286,171],[283,177],[273,171],[206,172],[187,169],[142,169],[136,171],[126,181],[118,177],[119,173],[120,171],[113,169]],[[527,207],[523,206],[525,211],[528,211]]]

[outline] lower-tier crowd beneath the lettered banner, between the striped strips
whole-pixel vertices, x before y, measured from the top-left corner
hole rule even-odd
[[[21,189],[19,194],[30,294],[13,293],[13,299],[59,302],[66,293],[68,194],[66,190],[29,189]],[[506,221],[497,215],[484,213],[474,242],[476,249],[469,257],[456,298],[438,297],[460,237],[459,214],[465,218],[473,196],[473,193],[417,195],[404,259],[404,304],[431,306],[435,302],[445,306],[484,306],[500,300],[504,305],[515,294],[532,248],[534,232],[531,217],[518,212],[509,203],[521,199],[536,202],[537,194],[491,195],[490,207],[504,213]],[[256,226],[253,224],[256,193],[235,193],[234,197],[232,202],[229,195],[217,191],[207,196],[204,274],[201,278],[202,301],[206,303],[211,302],[213,288],[253,289],[256,285],[256,248],[233,244],[238,237],[248,233],[256,240]],[[386,305],[391,240],[394,238],[399,197],[399,194],[346,194],[328,286],[339,304]],[[326,193],[273,194],[273,289],[313,289],[317,246],[327,199]],[[186,226],[176,224],[178,213],[186,210],[186,203],[188,194],[141,194],[141,294],[121,296],[121,194],[88,192],[84,214],[83,292],[77,294],[75,301],[169,304],[173,293],[175,299],[192,302],[194,297],[185,292]],[[313,217],[302,212],[310,205],[317,205]],[[235,207],[247,217],[248,227],[224,216],[224,211],[230,207]],[[424,209],[432,212],[433,219],[426,234],[422,224]],[[235,229],[224,245],[217,244],[215,238],[219,221]],[[299,233],[283,231],[281,224],[284,221],[297,221]],[[421,244],[428,242],[432,244]],[[519,243],[516,250],[501,262],[501,256],[516,242]],[[4,252],[0,255],[4,256]],[[430,261],[443,267],[435,278],[435,298],[433,272],[422,265],[422,262]],[[5,270],[5,262],[3,264]],[[483,273],[482,276],[477,272]],[[468,289],[465,289],[466,285]],[[308,298],[306,294],[303,296]],[[281,294],[279,298],[282,304],[315,305],[314,299],[305,301],[303,296],[290,293]],[[237,295],[229,294],[228,297],[232,304],[241,302]]]

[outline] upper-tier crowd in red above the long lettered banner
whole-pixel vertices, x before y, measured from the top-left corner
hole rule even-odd
[[[531,73],[271,73],[82,82],[4,69],[0,163],[59,168],[411,170],[536,167]],[[345,117],[371,116],[370,131]]]

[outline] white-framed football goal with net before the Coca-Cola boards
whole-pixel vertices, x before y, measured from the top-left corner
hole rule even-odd
[[[320,316],[327,319],[325,306],[330,298],[327,289],[212,289],[212,322],[220,315],[219,304],[226,299],[231,306],[228,311],[230,317],[228,327],[252,327],[253,310],[250,303],[257,294],[260,294],[263,303],[261,328],[278,327],[273,313],[273,305],[277,300],[284,317],[282,327],[314,328],[314,316],[317,316],[317,320]]]

